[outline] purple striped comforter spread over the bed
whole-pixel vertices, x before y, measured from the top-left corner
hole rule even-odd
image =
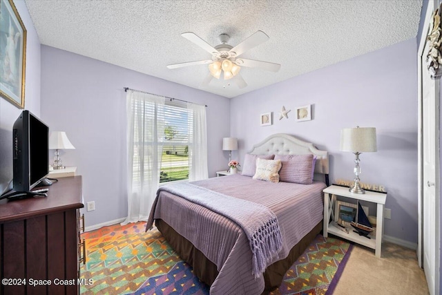
[[[275,184],[243,175],[229,175],[192,183],[262,204],[276,214],[282,249],[268,265],[286,258],[290,249],[323,219],[322,191],[325,184],[322,182]],[[153,218],[167,222],[217,265],[219,274],[211,285],[211,294],[262,293],[264,278],[253,276],[249,240],[235,222],[166,191],[161,191],[155,201],[149,221]]]

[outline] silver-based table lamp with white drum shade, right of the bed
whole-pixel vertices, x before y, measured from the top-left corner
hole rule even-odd
[[[340,131],[340,151],[354,153],[354,184],[349,188],[351,193],[365,193],[359,184],[361,166],[359,166],[359,155],[362,152],[377,151],[376,128],[367,127],[345,128]]]

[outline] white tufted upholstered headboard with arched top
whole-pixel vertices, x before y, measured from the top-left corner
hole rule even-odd
[[[249,151],[253,155],[316,155],[315,173],[326,174],[328,182],[329,153],[320,151],[310,143],[302,141],[289,134],[273,134],[262,142],[255,144]]]

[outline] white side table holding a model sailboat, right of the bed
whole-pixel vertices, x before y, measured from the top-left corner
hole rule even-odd
[[[374,249],[376,257],[381,257],[381,247],[383,238],[383,220],[384,220],[384,207],[385,200],[387,199],[387,193],[376,193],[374,191],[365,191],[362,193],[350,193],[348,187],[339,187],[332,185],[323,190],[324,192],[324,237],[327,238],[328,234],[334,234],[340,238],[351,240],[365,247]],[[336,196],[343,196],[346,198],[352,198],[354,200],[361,200],[365,202],[373,202],[377,204],[376,212],[376,238],[366,238],[365,236],[359,236],[354,231],[350,231],[348,234],[345,231],[338,229],[334,224],[329,223],[330,217],[334,220],[334,203],[336,202]]]

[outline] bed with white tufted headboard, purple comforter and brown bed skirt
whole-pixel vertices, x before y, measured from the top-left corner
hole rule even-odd
[[[293,135],[276,134],[254,145],[246,157],[255,155],[314,155],[315,180],[311,184],[274,183],[241,174],[210,178],[189,184],[187,193],[199,196],[196,200],[182,196],[186,194],[182,191],[188,189],[182,186],[188,184],[168,184],[164,187],[169,189],[158,190],[151,210],[146,230],[155,220],[171,247],[193,267],[200,280],[211,286],[211,294],[262,294],[278,287],[289,267],[322,229],[327,151]],[[322,179],[316,180],[318,177]],[[205,198],[214,203],[206,204],[209,201]],[[266,257],[264,269],[256,267],[256,252],[247,228],[235,216],[224,216],[217,202],[230,204],[231,208],[224,209],[227,211],[249,209],[253,202],[276,216],[281,243],[276,253]]]

